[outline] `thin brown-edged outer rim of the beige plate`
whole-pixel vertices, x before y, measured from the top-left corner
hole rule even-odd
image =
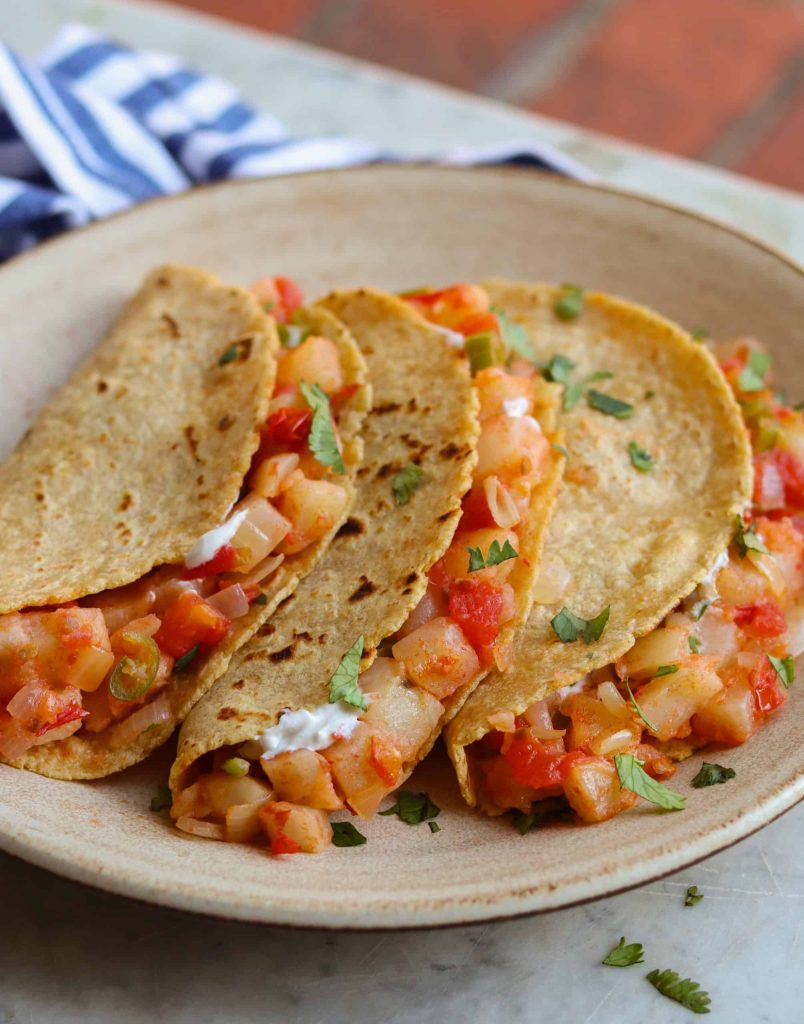
[[[90,221],[87,224],[80,225],[48,239],[7,260],[0,267],[0,274],[5,270],[17,268],[23,262],[32,257],[36,258],[44,250],[51,251],[59,246],[69,246],[79,233],[84,234],[94,229],[100,229],[113,221],[124,220],[132,216],[136,217],[143,209],[153,207],[156,204],[192,202],[194,196],[202,193],[264,187],[268,182],[274,180],[296,180],[312,177],[354,177],[366,173],[382,175],[383,173],[398,173],[400,170],[413,175],[420,171],[425,171],[428,174],[435,172],[445,176],[460,174],[464,176],[517,177],[523,180],[539,178],[543,181],[549,180],[552,185],[558,187],[610,195],[626,200],[629,203],[646,205],[669,212],[674,216],[697,221],[707,225],[708,228],[714,228],[743,243],[748,243],[751,247],[759,249],[782,263],[787,268],[792,269],[801,279],[802,283],[804,283],[804,264],[784,252],[779,247],[716,217],[659,198],[644,196],[617,185],[602,182],[578,181],[554,172],[521,166],[481,165],[477,167],[455,167],[427,161],[412,161],[410,163],[387,165],[368,164],[351,168],[318,169],[291,174],[223,179],[195,184],[191,188],[179,193],[152,197],[142,203],[127,207],[108,217]],[[326,919],[313,921],[314,913],[310,914],[308,910],[283,910],[270,905],[258,906],[254,908],[255,912],[247,912],[240,907],[232,906],[218,896],[200,898],[187,896],[182,893],[160,889],[157,884],[145,882],[141,879],[134,880],[126,876],[115,876],[114,870],[110,873],[103,870],[97,871],[90,865],[75,863],[64,855],[51,854],[46,839],[39,839],[36,836],[24,838],[20,835],[11,835],[9,831],[4,830],[0,833],[0,849],[37,867],[44,868],[73,882],[88,885],[92,888],[129,899],[135,899],[138,902],[150,905],[170,907],[201,916],[318,931],[415,931],[509,921],[515,918],[532,916],[553,910],[566,909],[618,895],[646,883],[665,878],[670,873],[699,863],[721,850],[728,849],[742,840],[756,834],[765,827],[765,825],[770,824],[802,801],[804,801],[804,762],[786,780],[777,783],[775,792],[766,797],[759,806],[751,806],[746,811],[732,815],[730,819],[722,822],[715,829],[710,829],[704,836],[699,836],[691,841],[691,844],[679,850],[665,851],[653,855],[644,864],[645,869],[641,871],[638,870],[636,865],[630,865],[628,881],[622,878],[623,870],[617,869],[613,872],[606,871],[603,874],[590,876],[582,882],[570,883],[576,890],[587,890],[585,893],[577,892],[570,896],[555,896],[554,893],[545,893],[539,889],[536,891],[531,889],[528,894],[526,888],[520,888],[514,892],[509,892],[504,898],[498,898],[497,900],[491,900],[482,896],[475,899],[472,899],[471,896],[465,899],[452,897],[448,898],[443,903],[436,902],[434,905],[432,900],[430,900],[430,907],[427,910],[422,910],[421,907],[417,908],[415,901],[409,904],[408,908],[405,907],[404,902],[401,906],[397,904],[393,909],[388,907],[362,908],[357,911],[357,914],[363,919],[362,921],[355,916],[354,919],[347,918],[345,923],[343,920],[337,922]],[[557,893],[560,893],[560,889],[556,890]],[[505,909],[503,909],[504,906]],[[497,911],[495,907],[498,908]]]

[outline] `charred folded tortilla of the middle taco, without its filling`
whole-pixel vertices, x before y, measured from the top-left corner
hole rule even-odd
[[[252,739],[288,709],[326,705],[330,679],[361,635],[362,668],[372,664],[424,593],[471,482],[477,398],[463,356],[393,296],[343,292],[324,305],[357,341],[374,388],[352,511],[318,569],[187,716],[171,771],[174,793],[205,754]],[[424,479],[398,505],[392,479],[411,462]]]

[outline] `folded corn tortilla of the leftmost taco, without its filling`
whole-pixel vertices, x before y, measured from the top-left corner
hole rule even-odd
[[[339,432],[353,496],[371,403],[366,364],[348,332],[322,310],[297,318],[334,341],[345,385]],[[220,364],[237,348],[237,358]],[[3,611],[61,603],[180,562],[237,501],[259,444],[279,339],[254,296],[205,271],[166,266],[149,275],[107,338],[42,412],[0,467]],[[69,438],[66,443],[65,439]],[[343,518],[348,513],[344,511]],[[181,722],[232,653],[325,552],[341,521],[260,584],[264,603],[162,690],[170,721],[118,745],[119,723],[32,748],[10,762],[56,778],[97,778],[141,761]],[[34,572],[26,565],[33,530]],[[125,720],[124,720],[125,721]]]

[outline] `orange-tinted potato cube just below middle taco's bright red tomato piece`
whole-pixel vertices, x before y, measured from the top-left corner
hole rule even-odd
[[[451,618],[433,618],[391,648],[408,678],[441,700],[480,669],[474,649]]]

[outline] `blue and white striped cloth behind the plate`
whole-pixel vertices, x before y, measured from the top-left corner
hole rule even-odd
[[[293,138],[228,83],[81,25],[37,60],[0,44],[0,260],[195,182],[397,159],[351,138]],[[588,179],[546,144],[439,154]]]

